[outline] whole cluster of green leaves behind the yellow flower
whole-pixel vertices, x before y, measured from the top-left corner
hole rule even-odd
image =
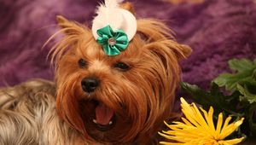
[[[182,83],[182,90],[187,92],[194,102],[200,104],[205,109],[210,106],[214,108],[214,118],[218,118],[218,113],[224,116],[235,116],[236,119],[245,118],[244,123],[239,128],[240,131],[234,136],[246,133],[247,136],[256,136],[256,59],[233,59],[229,61],[230,69],[233,73],[223,73],[212,81],[211,89],[201,90],[196,85]],[[225,87],[225,93],[221,90]],[[227,91],[229,90],[229,91]],[[231,90],[231,91],[230,91]],[[231,93],[231,95],[229,95]]]

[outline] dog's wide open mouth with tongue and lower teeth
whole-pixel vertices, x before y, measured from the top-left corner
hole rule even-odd
[[[92,120],[98,131],[109,131],[116,122],[116,117],[112,108],[98,102],[95,109],[95,119]]]

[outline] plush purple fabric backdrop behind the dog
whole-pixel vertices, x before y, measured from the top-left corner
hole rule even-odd
[[[179,43],[194,50],[183,61],[183,80],[207,88],[228,71],[230,58],[256,56],[256,4],[253,0],[206,0],[172,5],[160,0],[131,0],[137,16],[165,20]],[[53,79],[41,49],[55,31],[55,15],[90,24],[96,1],[0,0],[0,86],[29,78]]]

